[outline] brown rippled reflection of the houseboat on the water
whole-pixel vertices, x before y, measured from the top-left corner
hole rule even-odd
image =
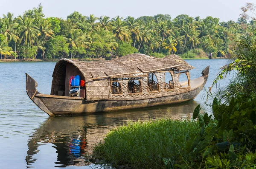
[[[126,124],[127,121],[138,121],[138,119],[145,121],[159,118],[191,118],[197,105],[196,101],[187,101],[172,106],[141,110],[49,117],[29,137],[27,165],[28,167],[36,166],[36,161],[43,161],[44,158],[51,158],[52,163],[48,161],[48,167],[56,164],[57,167],[91,165],[87,161],[88,155],[93,151],[94,145],[102,141],[111,128]],[[40,148],[41,146],[44,148]],[[56,153],[39,155],[39,149]]]

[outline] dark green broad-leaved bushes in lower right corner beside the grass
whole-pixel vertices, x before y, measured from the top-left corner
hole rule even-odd
[[[212,115],[201,115],[200,105],[193,119],[201,127],[186,145],[187,152],[195,152],[194,166],[205,168],[256,167],[256,99],[240,94],[229,104],[215,98]]]

